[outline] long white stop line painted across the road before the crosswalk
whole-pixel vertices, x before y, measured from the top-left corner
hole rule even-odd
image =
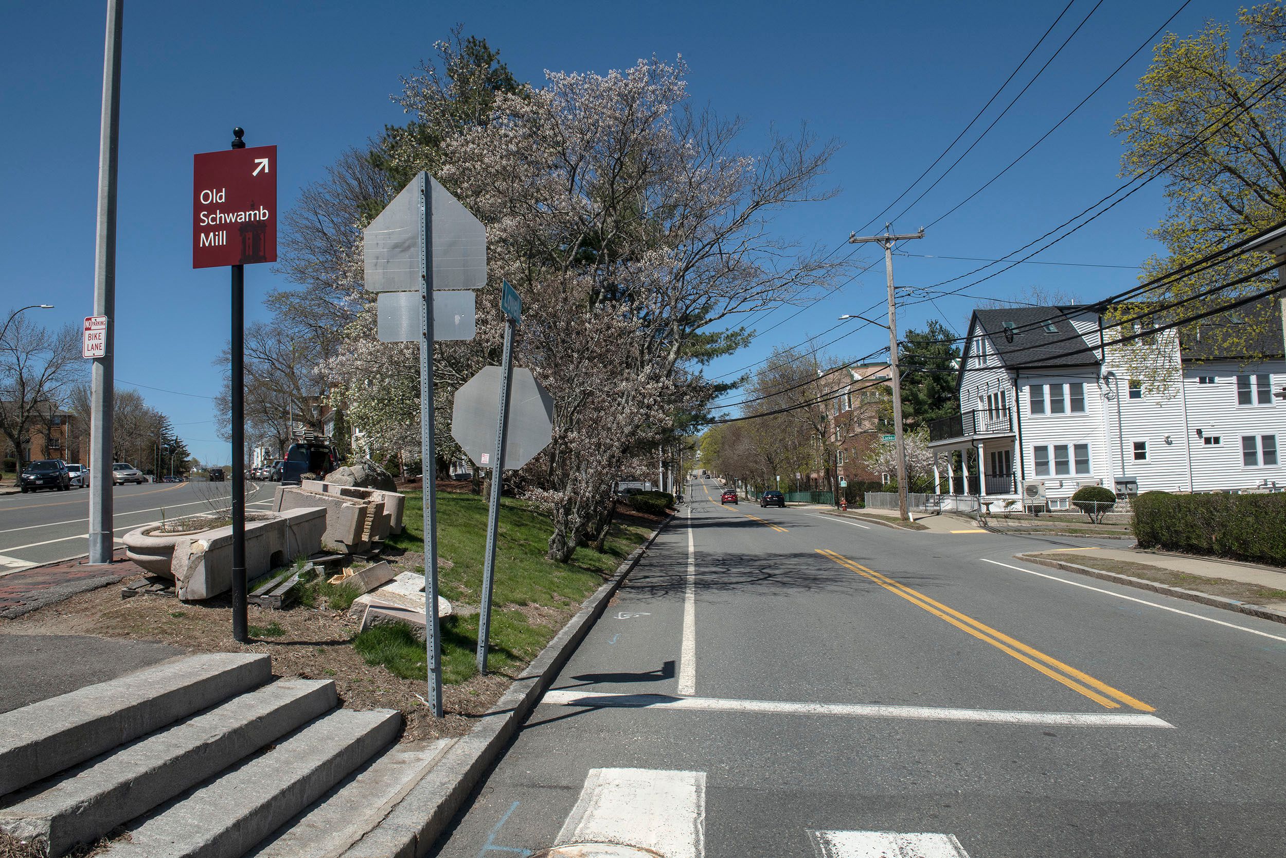
[[[1056,724],[1065,727],[1164,727],[1174,724],[1156,715],[1123,713],[1034,713],[1004,709],[950,709],[937,706],[882,706],[872,704],[801,704],[778,700],[724,700],[721,697],[670,697],[620,695],[571,689],[547,691],[544,702],[589,709],[689,709],[706,711],[765,713],[774,715],[835,715],[840,718],[903,718],[909,720],[963,720],[986,724]]]

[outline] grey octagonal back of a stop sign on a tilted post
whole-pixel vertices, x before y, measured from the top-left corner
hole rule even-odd
[[[516,367],[509,381],[509,432],[504,467],[517,471],[553,439],[554,400],[530,369]],[[455,391],[451,436],[478,467],[493,467],[500,419],[500,368],[484,367]]]

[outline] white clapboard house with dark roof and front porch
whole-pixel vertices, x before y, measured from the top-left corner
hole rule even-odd
[[[1211,325],[1237,324],[1236,315],[1111,345],[1123,328],[1075,306],[975,311],[961,413],[930,426],[936,490],[1060,509],[1083,485],[1118,494],[1286,489],[1280,305],[1265,300],[1242,314],[1271,322],[1240,350],[1260,358],[1214,342]],[[1137,369],[1139,354],[1163,369]]]

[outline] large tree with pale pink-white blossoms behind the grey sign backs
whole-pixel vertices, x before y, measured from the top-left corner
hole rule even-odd
[[[440,49],[446,77],[405,81],[413,121],[385,135],[373,162],[390,185],[433,171],[487,225],[478,334],[435,347],[439,390],[498,363],[500,280],[522,295],[516,363],[556,405],[553,444],[525,482],[552,512],[549,556],[565,561],[601,536],[615,480],[718,392],[700,365],[741,342],[736,314],[799,300],[846,270],[799,252],[770,223],[829,196],[818,181],[835,147],[801,132],[756,157],[736,152],[742,123],[688,107],[682,62],[548,73],[535,89],[487,72],[485,44]],[[324,232],[319,242],[334,234]],[[347,283],[352,256],[336,259]],[[368,315],[327,372],[355,424],[386,424],[377,436],[396,446],[399,430],[418,428],[419,364],[401,352],[413,347],[378,343]]]

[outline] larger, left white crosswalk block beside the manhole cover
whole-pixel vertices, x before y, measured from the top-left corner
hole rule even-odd
[[[590,769],[557,845],[611,843],[702,858],[705,827],[705,772]]]

